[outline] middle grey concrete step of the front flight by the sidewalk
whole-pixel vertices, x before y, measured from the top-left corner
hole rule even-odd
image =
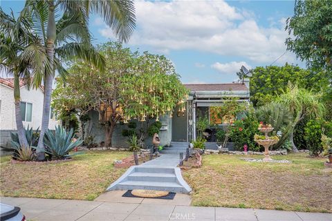
[[[128,176],[128,180],[150,182],[176,182],[174,173],[141,173],[134,172]]]

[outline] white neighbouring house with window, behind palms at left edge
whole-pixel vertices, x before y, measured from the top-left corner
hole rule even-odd
[[[37,129],[42,126],[44,88],[30,88],[23,80],[19,82],[21,91],[21,116],[25,127]],[[59,122],[51,110],[49,128],[54,129]],[[16,131],[14,79],[0,78],[0,144],[10,141],[10,132]]]

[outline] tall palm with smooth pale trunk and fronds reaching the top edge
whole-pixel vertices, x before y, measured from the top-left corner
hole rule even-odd
[[[62,19],[55,21],[56,12],[62,10]],[[87,24],[90,12],[100,15],[109,27],[113,29],[120,41],[127,41],[135,28],[135,15],[133,1],[26,1],[24,11],[27,12],[37,24],[35,27],[39,35],[44,39],[44,46],[50,68],[44,76],[37,79],[38,83],[44,79],[44,108],[42,115],[42,129],[38,142],[39,150],[44,148],[44,134],[48,129],[50,116],[50,96],[52,93],[55,68],[61,63],[61,59],[85,59],[103,67],[101,59],[95,55],[90,44],[90,33]],[[74,22],[78,21],[78,22]],[[78,43],[77,43],[78,42]],[[57,56],[59,60],[57,60]],[[63,68],[59,68],[62,73]],[[59,71],[59,70],[58,70]],[[44,153],[40,153],[39,160],[44,160]]]

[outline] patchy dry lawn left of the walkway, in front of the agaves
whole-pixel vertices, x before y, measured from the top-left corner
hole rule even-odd
[[[1,157],[1,195],[27,198],[94,200],[126,169],[113,167],[130,152],[91,151],[59,164],[10,164]]]

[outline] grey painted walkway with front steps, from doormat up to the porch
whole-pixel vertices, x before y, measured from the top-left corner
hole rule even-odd
[[[171,146],[160,151],[161,156],[139,166],[131,166],[107,191],[150,189],[174,193],[190,193],[192,189],[183,180],[179,153],[185,153],[189,143],[171,142]]]

